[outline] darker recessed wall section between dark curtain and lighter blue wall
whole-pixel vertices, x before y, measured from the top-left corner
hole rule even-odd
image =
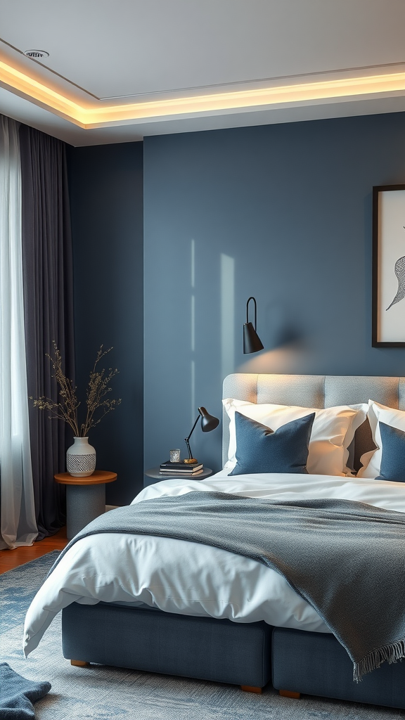
[[[114,470],[107,503],[123,505],[143,487],[142,143],[68,148],[76,383],[83,390],[99,346],[101,366],[117,367],[117,410],[89,434],[97,467]]]

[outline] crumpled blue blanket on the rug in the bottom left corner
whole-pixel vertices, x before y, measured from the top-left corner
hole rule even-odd
[[[1,720],[33,720],[32,703],[45,697],[50,683],[34,683],[14,672],[6,662],[0,662],[0,718]]]

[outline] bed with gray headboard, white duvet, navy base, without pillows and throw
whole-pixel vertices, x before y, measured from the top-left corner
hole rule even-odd
[[[303,408],[373,398],[405,410],[405,379],[233,374],[224,381],[223,397]],[[229,439],[224,410],[224,465]],[[355,431],[348,462],[358,469],[360,456],[374,447],[366,421]],[[342,474],[228,477],[225,471],[200,482],[164,480],[143,490],[134,503],[218,490],[276,500],[343,498],[405,512],[403,484]],[[129,542],[120,535],[81,539],[27,613],[26,654],[61,610],[63,654],[76,665],[100,662],[254,691],[272,679],[290,696],[308,693],[405,707],[405,665],[385,663],[362,683],[353,683],[350,659],[314,608],[274,570],[217,547],[149,536],[130,536]]]

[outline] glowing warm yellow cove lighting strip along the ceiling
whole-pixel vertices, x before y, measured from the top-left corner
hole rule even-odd
[[[87,130],[92,127],[125,125],[152,119],[163,120],[168,117],[219,114],[227,110],[401,92],[405,91],[405,73],[386,73],[125,105],[94,106],[94,104],[80,105],[0,61],[0,85]]]

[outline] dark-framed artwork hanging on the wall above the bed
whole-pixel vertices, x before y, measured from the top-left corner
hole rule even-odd
[[[405,348],[405,184],[373,187],[373,348]]]

